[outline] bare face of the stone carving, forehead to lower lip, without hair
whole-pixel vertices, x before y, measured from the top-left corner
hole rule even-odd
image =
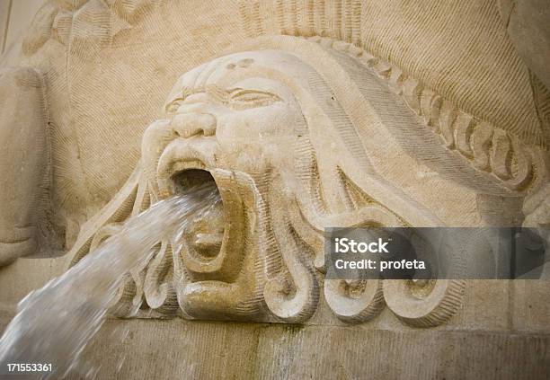
[[[288,63],[286,56],[241,53],[197,67],[173,87],[164,119],[146,131],[144,165],[160,198],[215,181],[223,201],[208,217],[192,221],[182,242],[182,270],[195,282],[183,294],[192,299],[199,292],[201,304],[200,281],[235,283],[243,271],[253,271],[250,256],[257,256],[252,251],[262,239],[257,225],[263,195],[256,182],[267,172],[292,172],[291,149],[280,147],[295,144],[303,116],[290,89],[267,77],[269,69],[257,62],[264,58],[272,66],[277,57],[275,63]]]

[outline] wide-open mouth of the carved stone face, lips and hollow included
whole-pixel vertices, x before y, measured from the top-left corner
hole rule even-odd
[[[188,220],[182,249],[173,252],[193,282],[231,282],[238,276],[249,220],[246,213],[254,208],[253,180],[245,173],[218,167],[211,159],[214,148],[207,142],[191,146],[189,141],[174,140],[157,163],[159,191],[165,196],[210,184],[221,199],[208,212]]]

